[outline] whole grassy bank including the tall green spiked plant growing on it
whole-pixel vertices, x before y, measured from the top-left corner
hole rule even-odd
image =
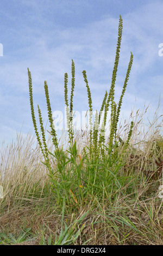
[[[92,122],[92,98],[85,70],[88,130],[73,129],[75,68],[72,60],[71,97],[68,75],[64,92],[67,132],[59,140],[53,125],[48,86],[45,96],[50,138],[46,140],[37,105],[40,133],[33,104],[32,75],[28,69],[29,101],[37,146],[30,135],[1,152],[0,244],[3,245],[162,245],[161,116],[156,113],[145,127],[145,114],[137,110],[130,121],[120,122],[133,54],[119,102],[115,82],[120,58],[122,18],[118,27],[116,57],[110,91],[105,92],[101,112]],[[110,110],[110,134],[106,118]],[[147,120],[146,120],[147,121]],[[102,123],[102,126],[99,124]]]

